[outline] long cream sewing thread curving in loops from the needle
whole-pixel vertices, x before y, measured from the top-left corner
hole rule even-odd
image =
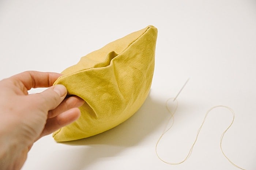
[[[186,83],[187,83],[187,82],[186,82]],[[245,169],[243,169],[242,167],[240,167],[240,166],[236,165],[235,163],[233,163],[233,162],[226,156],[226,154],[223,152],[223,149],[222,149],[222,140],[223,140],[223,137],[224,137],[225,133],[227,132],[227,130],[229,130],[229,128],[231,127],[231,125],[233,124],[234,119],[235,119],[235,112],[233,111],[233,109],[231,109],[230,107],[227,107],[227,106],[225,106],[225,105],[217,105],[217,106],[214,106],[214,107],[210,108],[210,109],[206,112],[206,115],[204,116],[203,122],[202,122],[202,124],[200,125],[199,129],[197,130],[196,138],[195,138],[195,140],[194,140],[194,142],[193,142],[193,144],[192,144],[192,146],[191,146],[191,148],[190,148],[190,150],[189,150],[187,156],[185,157],[185,159],[183,159],[183,160],[180,161],[180,162],[167,162],[167,161],[163,160],[163,159],[158,155],[157,146],[158,146],[159,141],[162,139],[163,135],[165,135],[166,132],[169,131],[169,130],[172,128],[172,126],[173,126],[173,124],[174,124],[174,114],[175,114],[175,112],[176,112],[176,110],[177,110],[177,108],[178,108],[178,101],[177,101],[176,98],[177,98],[177,97],[175,97],[175,98],[169,98],[168,100],[166,100],[165,106],[166,106],[166,109],[167,109],[167,111],[170,113],[171,116],[170,116],[170,118],[167,120],[167,123],[166,123],[166,125],[165,125],[165,128],[164,128],[164,130],[163,130],[161,136],[159,137],[159,139],[157,140],[157,143],[156,143],[156,145],[155,145],[155,152],[156,152],[156,154],[157,154],[157,157],[158,157],[162,162],[165,162],[165,163],[167,163],[167,164],[169,164],[169,165],[179,165],[179,164],[181,164],[181,163],[187,161],[187,159],[191,156],[193,147],[195,146],[195,143],[196,143],[196,141],[197,141],[198,135],[199,135],[199,133],[200,133],[202,127],[203,127],[203,124],[204,124],[204,122],[205,122],[205,120],[206,120],[206,117],[208,116],[208,114],[209,114],[213,109],[222,107],[222,108],[228,109],[228,110],[232,113],[233,119],[232,119],[231,123],[229,124],[229,126],[226,128],[225,131],[223,131],[223,133],[222,133],[222,135],[221,135],[221,138],[220,138],[220,148],[221,148],[221,152],[222,152],[222,154],[224,155],[224,157],[231,163],[231,165],[233,165],[234,167],[237,167],[238,169],[245,170]],[[170,111],[170,109],[169,109],[169,107],[168,107],[168,101],[169,101],[169,100],[172,100],[172,99],[174,99],[173,101],[176,101],[176,106],[175,106],[175,108],[174,108],[173,113]],[[172,118],[173,118],[173,119],[172,119]],[[171,124],[170,127],[167,129],[167,126],[168,126],[168,124],[169,124],[169,122],[170,122],[171,119],[173,120],[173,121],[172,121],[172,124]]]

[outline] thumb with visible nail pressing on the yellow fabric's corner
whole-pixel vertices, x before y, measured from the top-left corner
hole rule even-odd
[[[45,111],[55,109],[67,95],[67,89],[65,86],[57,84],[44,90],[41,93],[32,94],[34,99],[39,102],[39,105]]]

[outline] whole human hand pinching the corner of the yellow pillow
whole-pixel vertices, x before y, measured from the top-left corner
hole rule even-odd
[[[28,71],[0,81],[0,167],[20,169],[33,143],[72,123],[84,101],[65,99],[63,85],[52,86],[59,73]],[[50,87],[28,94],[31,88]]]

